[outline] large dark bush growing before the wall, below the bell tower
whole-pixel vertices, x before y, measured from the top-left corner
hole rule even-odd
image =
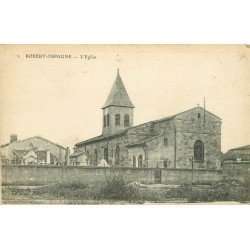
[[[122,175],[108,177],[106,185],[101,189],[101,196],[109,200],[138,201],[140,188],[129,185]]]

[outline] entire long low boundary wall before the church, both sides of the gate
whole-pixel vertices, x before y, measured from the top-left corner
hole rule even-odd
[[[156,169],[156,168],[105,168],[54,165],[4,165],[2,166],[3,185],[45,185],[52,183],[102,184],[108,177],[122,175],[127,181],[155,183],[156,172],[160,171],[161,183],[184,184],[193,182],[208,183],[222,180],[222,170]],[[238,174],[238,178],[240,178]]]

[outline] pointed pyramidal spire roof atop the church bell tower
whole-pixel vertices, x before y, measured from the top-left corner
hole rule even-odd
[[[134,105],[129,99],[128,93],[123,85],[121,76],[119,74],[119,69],[117,70],[117,75],[113,87],[109,92],[108,98],[102,108],[104,109],[109,106],[134,108]]]

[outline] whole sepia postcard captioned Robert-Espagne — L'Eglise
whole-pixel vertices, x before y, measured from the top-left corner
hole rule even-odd
[[[2,203],[249,203],[249,66],[248,45],[2,45]]]

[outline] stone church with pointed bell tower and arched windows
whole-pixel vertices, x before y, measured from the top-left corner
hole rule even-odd
[[[102,134],[78,142],[90,166],[219,169],[221,119],[202,107],[133,124],[135,106],[119,70],[102,107]],[[102,164],[101,164],[102,163]]]

